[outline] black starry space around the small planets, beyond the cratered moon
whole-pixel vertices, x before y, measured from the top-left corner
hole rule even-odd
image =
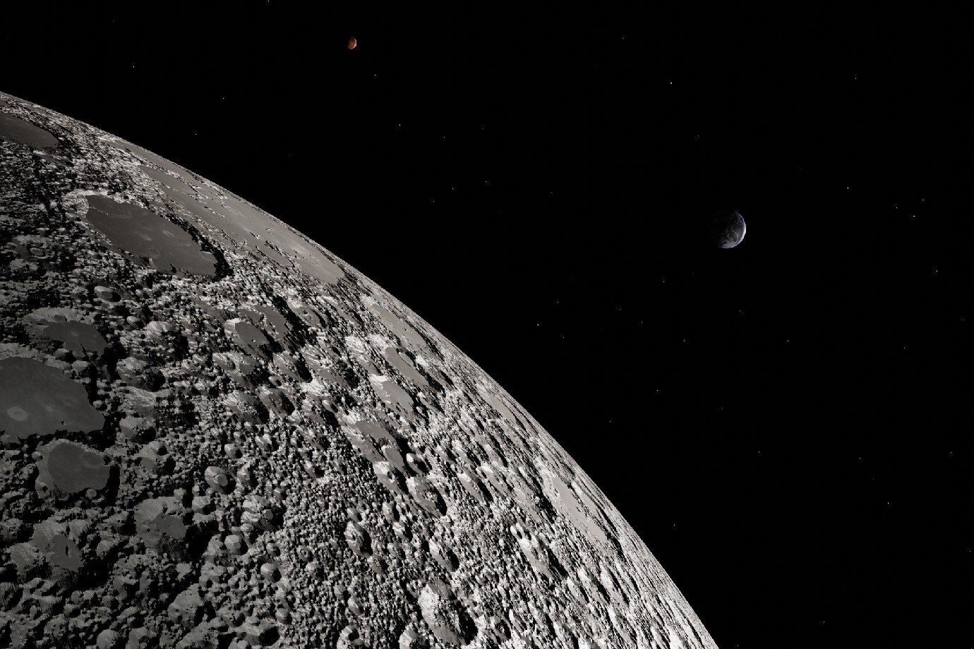
[[[132,7],[5,8],[0,89],[416,310],[720,646],[971,645],[963,18]]]

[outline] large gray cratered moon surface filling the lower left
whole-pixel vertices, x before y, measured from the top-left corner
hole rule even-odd
[[[579,465],[360,272],[40,106],[0,95],[0,137],[0,646],[715,646]]]

